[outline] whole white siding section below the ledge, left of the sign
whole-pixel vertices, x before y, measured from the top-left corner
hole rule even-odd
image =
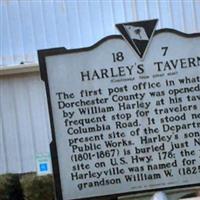
[[[0,173],[35,171],[51,141],[44,83],[38,73],[0,79]]]

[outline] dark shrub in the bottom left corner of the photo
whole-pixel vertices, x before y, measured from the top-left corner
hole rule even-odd
[[[0,200],[23,200],[20,175],[6,174],[0,176]]]

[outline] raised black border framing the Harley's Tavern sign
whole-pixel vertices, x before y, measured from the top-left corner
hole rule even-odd
[[[170,28],[164,28],[155,30],[154,35],[161,34],[161,33],[173,33],[185,38],[195,38],[200,37],[200,33],[184,33],[175,29]],[[153,37],[154,37],[153,35]],[[52,159],[52,171],[53,171],[53,177],[54,177],[54,186],[55,186],[55,196],[57,200],[65,200],[62,196],[62,189],[61,189],[61,180],[60,180],[60,170],[59,170],[59,162],[58,162],[58,153],[57,153],[57,145],[56,145],[56,136],[55,136],[55,128],[54,128],[54,121],[53,121],[53,112],[52,112],[52,104],[51,104],[51,98],[50,98],[50,88],[48,83],[48,75],[47,75],[47,66],[46,66],[46,57],[48,56],[54,56],[54,55],[62,55],[67,53],[78,53],[78,52],[84,52],[92,50],[102,43],[104,43],[107,40],[110,39],[121,39],[124,40],[121,35],[110,35],[107,37],[104,37],[103,39],[99,40],[97,43],[95,43],[92,46],[84,47],[84,48],[77,48],[77,49],[66,49],[65,47],[58,47],[58,48],[50,48],[50,49],[41,49],[38,50],[38,60],[39,60],[39,69],[40,69],[40,76],[41,79],[45,83],[46,88],[46,95],[47,95],[47,103],[48,103],[48,110],[49,110],[49,119],[50,119],[50,126],[51,126],[51,135],[52,135],[52,142],[50,143],[50,151],[51,151],[51,159]],[[152,38],[153,39],[153,38]],[[127,46],[127,48],[129,48]],[[71,200],[91,200],[91,199],[101,199],[101,198],[110,198],[112,200],[116,200],[120,196],[125,195],[133,195],[133,194],[142,194],[142,193],[148,193],[148,192],[156,192],[156,191],[162,191],[162,190],[173,190],[173,189],[181,189],[181,188],[194,188],[200,186],[199,184],[188,184],[188,185],[180,185],[180,186],[172,186],[172,187],[161,187],[157,189],[148,189],[148,190],[141,190],[141,191],[133,191],[133,192],[123,192],[123,193],[115,193],[115,194],[109,194],[109,195],[102,195],[102,196],[93,196],[93,197],[86,197],[86,198],[76,198]]]

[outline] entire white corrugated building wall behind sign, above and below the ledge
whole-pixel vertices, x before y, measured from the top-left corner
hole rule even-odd
[[[200,32],[199,11],[199,0],[0,0],[0,173],[35,171],[49,152],[37,49],[90,46],[117,34],[115,23],[152,18],[157,29]]]

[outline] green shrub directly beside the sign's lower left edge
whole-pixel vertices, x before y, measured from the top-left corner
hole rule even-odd
[[[25,200],[53,200],[52,176],[36,176],[27,174],[21,178]]]

